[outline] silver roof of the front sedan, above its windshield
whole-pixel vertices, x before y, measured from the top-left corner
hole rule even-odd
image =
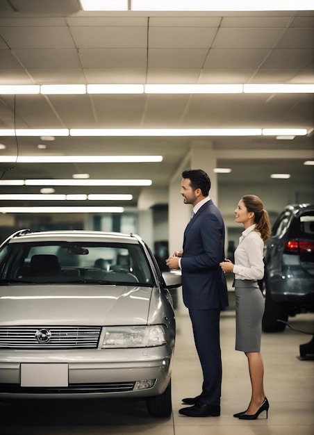
[[[27,242],[114,242],[114,243],[131,243],[137,245],[141,239],[136,234],[124,234],[106,231],[86,231],[86,230],[68,230],[68,231],[38,231],[20,230],[10,236],[8,243],[27,243]]]

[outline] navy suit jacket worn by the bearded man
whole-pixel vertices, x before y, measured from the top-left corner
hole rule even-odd
[[[228,306],[224,261],[224,221],[213,201],[206,202],[184,231],[181,258],[183,302],[188,309]]]

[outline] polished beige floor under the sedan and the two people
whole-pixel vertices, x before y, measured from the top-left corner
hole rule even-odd
[[[201,372],[185,309],[179,309],[172,376],[173,414],[151,418],[144,402],[121,400],[0,403],[1,435],[313,435],[314,361],[300,361],[299,345],[311,339],[286,328],[263,334],[265,392],[270,401],[268,419],[241,421],[233,413],[245,409],[250,396],[247,359],[234,350],[235,312],[222,313],[222,414],[220,417],[181,416],[181,398],[197,395]],[[301,331],[314,332],[314,315],[289,319]]]

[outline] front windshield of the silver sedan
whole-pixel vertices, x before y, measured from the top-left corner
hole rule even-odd
[[[8,244],[0,252],[1,281],[154,285],[144,250],[131,243]]]

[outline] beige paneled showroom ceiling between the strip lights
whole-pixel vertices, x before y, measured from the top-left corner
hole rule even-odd
[[[314,11],[86,13],[76,0],[0,0],[0,85],[313,84],[313,67]],[[288,172],[292,180],[306,183],[313,179],[313,167],[303,165],[313,158],[313,103],[313,94],[298,93],[0,95],[0,143],[6,145],[0,154],[15,155],[18,147],[19,156],[163,156],[161,163],[129,164],[25,164],[17,160],[11,170],[12,165],[0,163],[1,173],[6,171],[2,180],[71,179],[74,173],[89,173],[92,179],[151,179],[154,188],[167,188],[191,144],[200,138],[16,140],[1,137],[1,129],[293,127],[307,129],[307,136],[294,140],[213,136],[201,141],[217,151],[217,165],[232,169],[218,176],[219,183],[233,186],[252,175],[267,183],[272,172]],[[38,149],[39,144],[46,149]],[[237,158],[236,153],[243,156],[243,150],[249,160]],[[279,151],[276,156],[274,150]],[[39,192],[38,187],[0,188],[8,194]],[[133,186],[56,188],[56,193],[131,193],[131,202],[108,202],[122,206],[137,206],[140,192],[140,187]]]

